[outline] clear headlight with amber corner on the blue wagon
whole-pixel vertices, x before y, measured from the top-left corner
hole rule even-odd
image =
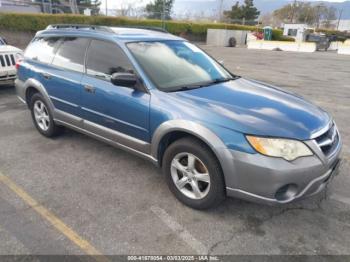
[[[311,150],[297,140],[246,136],[251,146],[260,154],[282,157],[292,161],[302,156],[312,156]]]

